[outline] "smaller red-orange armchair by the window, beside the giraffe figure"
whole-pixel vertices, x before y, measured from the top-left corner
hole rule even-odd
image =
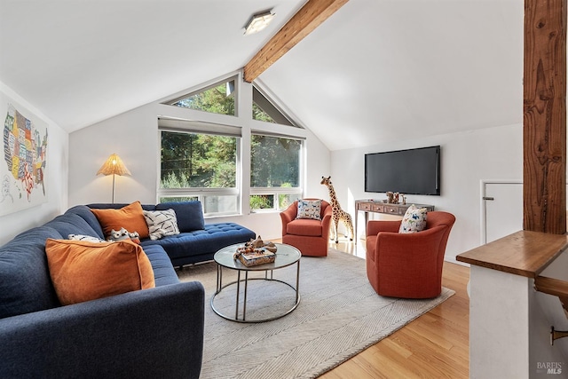
[[[297,213],[298,201],[294,201],[287,209],[280,212],[282,243],[299,249],[303,256],[327,257],[331,205],[327,201],[321,201],[321,211],[319,212],[321,220],[296,218]]]

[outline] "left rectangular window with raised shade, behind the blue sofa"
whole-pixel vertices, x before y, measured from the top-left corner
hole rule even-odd
[[[239,213],[237,162],[241,138],[224,134],[223,126],[216,128],[204,122],[161,119],[159,124],[159,201],[199,200],[206,216]]]

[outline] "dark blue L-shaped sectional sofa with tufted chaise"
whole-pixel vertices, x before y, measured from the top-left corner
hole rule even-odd
[[[225,235],[235,230],[241,229],[212,225],[159,243],[142,241],[155,288],[70,305],[59,303],[53,287],[46,240],[103,238],[97,217],[80,205],[20,233],[0,247],[0,377],[199,377],[204,289],[196,281],[180,282],[172,262],[210,259],[219,244],[235,243]]]

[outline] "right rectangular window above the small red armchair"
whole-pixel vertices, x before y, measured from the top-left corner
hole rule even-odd
[[[301,139],[253,134],[250,209],[285,209],[302,196]]]

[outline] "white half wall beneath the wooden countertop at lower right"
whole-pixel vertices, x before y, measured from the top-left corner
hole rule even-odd
[[[567,280],[564,251],[540,274]],[[550,343],[550,327],[567,330],[557,296],[534,289],[533,278],[471,265],[469,375],[472,378],[568,377],[568,338]],[[548,373],[548,367],[556,368]]]

